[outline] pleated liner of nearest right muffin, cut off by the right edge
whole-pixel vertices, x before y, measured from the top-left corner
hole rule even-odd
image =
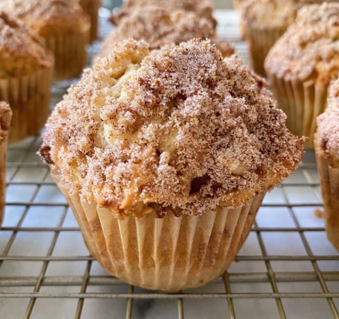
[[[325,206],[327,238],[339,251],[339,166],[331,166],[330,159],[318,143],[317,134],[314,137],[314,146]]]

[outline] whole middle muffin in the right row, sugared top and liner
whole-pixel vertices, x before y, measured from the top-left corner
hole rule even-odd
[[[293,134],[310,137],[326,107],[329,83],[339,76],[339,4],[304,6],[270,50],[265,69]]]

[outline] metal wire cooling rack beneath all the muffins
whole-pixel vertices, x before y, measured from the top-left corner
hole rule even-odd
[[[101,35],[109,31],[102,10]],[[236,44],[237,17],[217,11],[218,33]],[[89,49],[90,57],[99,42]],[[53,87],[52,106],[69,83]],[[0,318],[339,318],[339,255],[326,239],[314,154],[268,194],[228,272],[178,293],[122,283],[93,260],[48,167],[40,138],[8,151],[7,206],[0,231]]]

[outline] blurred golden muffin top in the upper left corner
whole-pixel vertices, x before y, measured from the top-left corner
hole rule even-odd
[[[77,1],[7,0],[0,10],[17,16],[43,37],[89,28],[89,19]]]

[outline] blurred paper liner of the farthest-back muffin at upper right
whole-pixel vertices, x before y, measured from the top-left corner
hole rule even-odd
[[[275,28],[256,28],[251,25],[245,25],[245,38],[248,42],[249,58],[253,70],[265,76],[264,62],[268,51],[274,43],[283,35],[286,29]]]

